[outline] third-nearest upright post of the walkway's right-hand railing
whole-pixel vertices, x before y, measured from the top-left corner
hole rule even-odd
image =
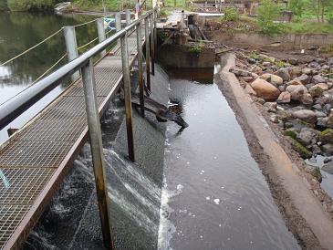
[[[139,68],[139,93],[140,93],[140,114],[144,117],[144,86],[143,86],[143,67],[142,67],[142,44],[141,44],[141,23],[136,26],[137,30],[137,50]]]

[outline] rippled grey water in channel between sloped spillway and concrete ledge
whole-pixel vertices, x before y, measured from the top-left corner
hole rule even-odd
[[[160,248],[299,249],[216,84],[172,76],[190,127],[168,123]]]

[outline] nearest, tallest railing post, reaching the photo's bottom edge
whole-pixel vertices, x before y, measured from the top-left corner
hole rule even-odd
[[[109,195],[106,181],[105,161],[100,131],[99,109],[96,100],[95,77],[91,59],[89,59],[87,64],[82,68],[82,81],[86,100],[88,131],[99,202],[99,216],[103,241],[107,248],[114,249],[113,230],[109,214]]]

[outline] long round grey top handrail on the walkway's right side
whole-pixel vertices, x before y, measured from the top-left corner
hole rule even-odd
[[[68,64],[63,67],[58,68],[46,78],[37,81],[34,85],[26,88],[12,99],[5,101],[5,103],[0,105],[0,130],[3,130],[5,126],[25,112],[26,109],[29,109],[39,99],[46,96],[52,89],[55,89],[60,84],[61,79],[72,75],[74,72],[86,65],[91,57],[98,55],[117,39],[126,36],[132,28],[139,25],[142,20],[151,16],[154,11],[155,10],[148,11],[145,15],[140,16],[139,19],[133,21],[129,26],[121,29],[113,36],[109,36],[109,38],[103,42],[90,48],[87,52],[68,62]]]

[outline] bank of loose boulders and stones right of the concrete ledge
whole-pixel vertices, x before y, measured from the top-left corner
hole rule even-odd
[[[304,158],[327,157],[333,173],[333,57],[280,61],[255,51],[237,52],[231,68],[248,95],[278,124]],[[312,174],[321,182],[318,169]]]

